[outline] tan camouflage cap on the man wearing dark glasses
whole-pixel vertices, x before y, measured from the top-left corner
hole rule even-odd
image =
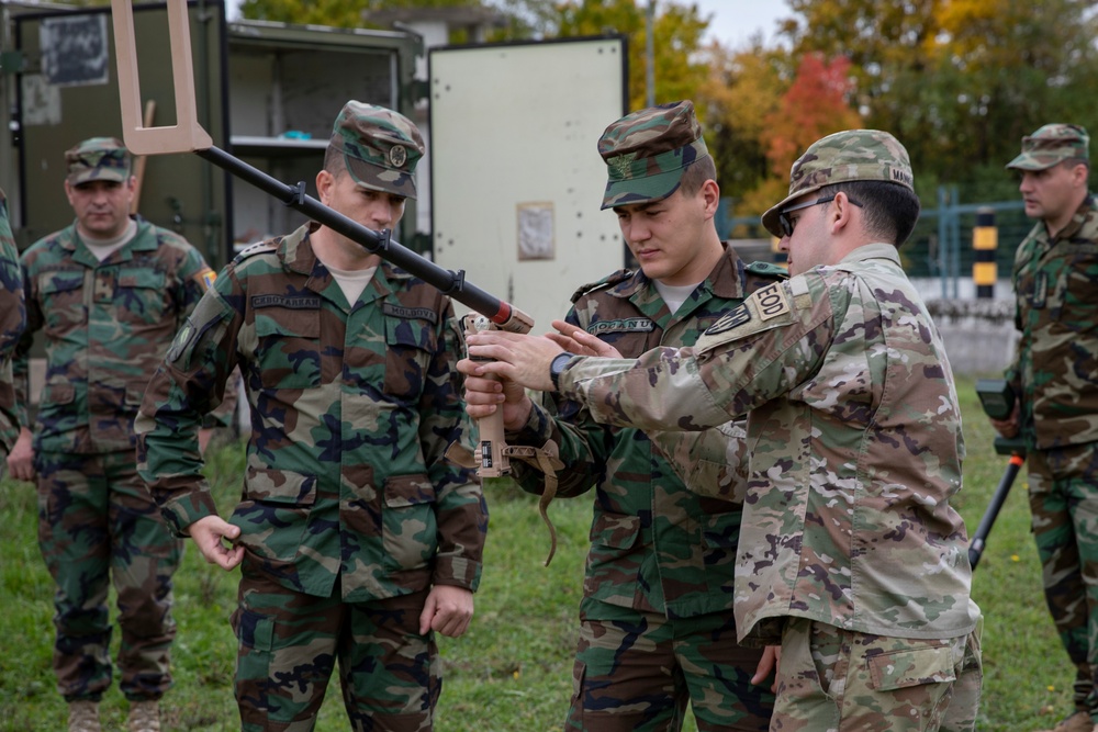
[[[778,214],[794,199],[832,183],[878,180],[915,190],[911,159],[899,140],[879,129],[847,129],[816,140],[789,171],[789,195],[762,215],[762,225],[782,236]]]

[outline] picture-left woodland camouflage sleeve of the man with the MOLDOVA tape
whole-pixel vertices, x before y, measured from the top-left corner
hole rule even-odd
[[[225,382],[236,368],[236,334],[243,314],[229,305],[225,277],[209,290],[176,334],[164,363],[148,384],[134,421],[137,472],[179,536],[217,513],[202,475],[198,430],[222,403]]]

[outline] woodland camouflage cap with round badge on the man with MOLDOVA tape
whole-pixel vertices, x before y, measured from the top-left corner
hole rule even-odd
[[[339,111],[328,144],[343,151],[359,185],[415,199],[412,173],[423,157],[423,135],[403,114],[351,100]]]

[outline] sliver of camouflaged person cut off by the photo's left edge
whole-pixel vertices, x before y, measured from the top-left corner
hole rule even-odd
[[[11,361],[25,326],[26,308],[23,305],[19,250],[15,249],[8,221],[8,202],[3,191],[0,191],[0,477],[3,477],[8,464],[8,452],[19,436]]]

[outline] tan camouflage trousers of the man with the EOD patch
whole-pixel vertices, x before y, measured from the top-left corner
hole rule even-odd
[[[885,638],[793,618],[782,635],[774,732],[972,732],[979,629]]]

